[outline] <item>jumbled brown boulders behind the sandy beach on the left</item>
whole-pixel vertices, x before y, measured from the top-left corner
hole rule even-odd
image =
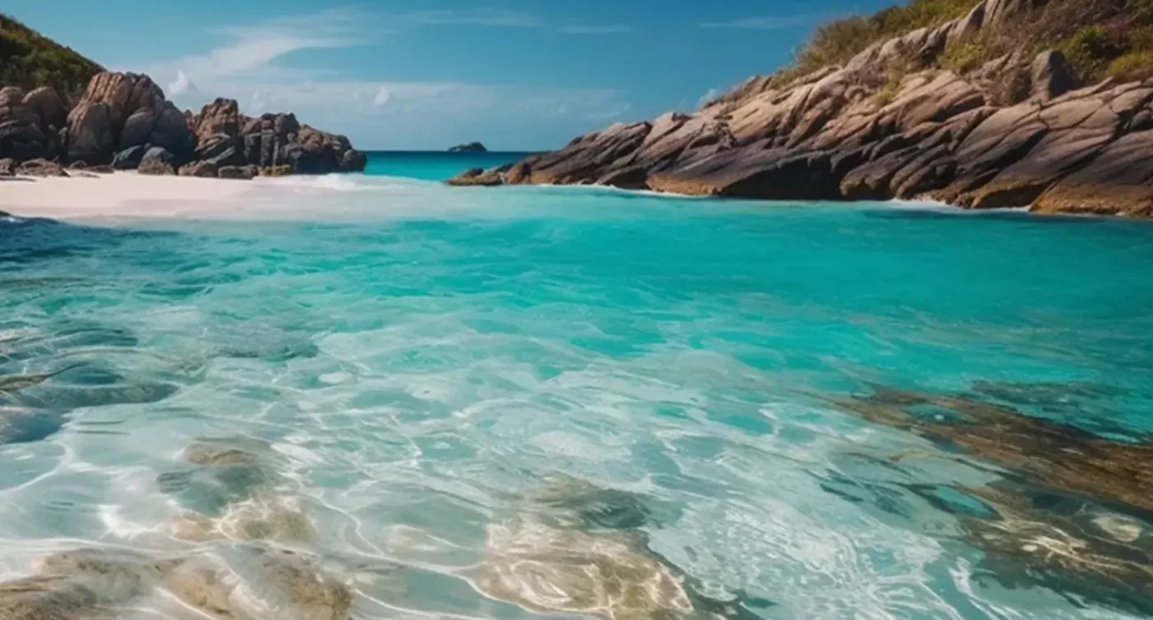
[[[169,153],[164,165],[173,171],[211,164],[195,168],[199,175],[247,173],[249,166],[274,174],[360,172],[367,162],[347,137],[301,124],[291,113],[249,118],[232,99],[217,99],[198,114],[181,112],[146,75],[99,73],[70,108],[50,88],[0,90],[0,158],[134,169],[151,149]],[[156,166],[146,172],[161,169],[168,173]]]

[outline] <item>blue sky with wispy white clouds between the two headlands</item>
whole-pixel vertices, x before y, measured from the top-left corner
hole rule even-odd
[[[54,0],[10,12],[183,107],[288,109],[362,149],[557,148],[692,109],[888,0]]]

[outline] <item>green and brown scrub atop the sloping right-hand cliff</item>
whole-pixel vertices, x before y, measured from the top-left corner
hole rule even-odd
[[[966,15],[978,3],[911,0],[872,16],[829,22],[813,33],[787,67],[773,76],[773,84],[784,85],[815,70],[843,65],[873,44],[919,28],[940,27]],[[998,28],[985,28],[975,38],[951,44],[937,59],[915,60],[965,74],[986,62],[1008,59],[1001,70],[1012,82],[1010,74],[1023,70],[1038,53],[1060,50],[1086,83],[1110,76],[1153,77],[1153,0],[1048,0],[1034,6]]]

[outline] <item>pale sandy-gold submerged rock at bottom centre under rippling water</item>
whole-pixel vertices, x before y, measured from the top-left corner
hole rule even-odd
[[[759,618],[733,600],[700,593],[700,582],[648,546],[655,500],[555,475],[490,524],[485,558],[465,576],[481,593],[543,613],[618,619]],[[771,605],[769,602],[763,602]]]

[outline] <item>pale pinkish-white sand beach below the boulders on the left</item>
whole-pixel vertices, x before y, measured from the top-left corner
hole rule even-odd
[[[246,181],[134,173],[0,181],[0,211],[43,218],[174,217],[251,191]]]

